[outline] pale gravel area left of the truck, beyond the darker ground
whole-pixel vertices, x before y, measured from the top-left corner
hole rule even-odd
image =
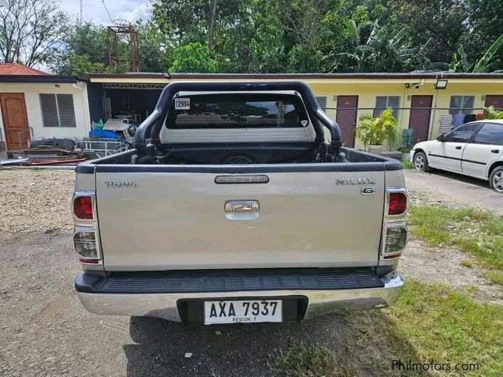
[[[68,233],[75,172],[0,170],[0,229],[4,232]]]

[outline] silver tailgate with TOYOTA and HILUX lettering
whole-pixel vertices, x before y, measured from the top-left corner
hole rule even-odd
[[[208,167],[126,168],[96,167],[108,271],[377,265],[384,170],[265,167],[247,176],[267,176],[268,183],[217,184],[225,174]],[[363,195],[364,187],[375,193]],[[259,208],[229,212],[229,200]]]

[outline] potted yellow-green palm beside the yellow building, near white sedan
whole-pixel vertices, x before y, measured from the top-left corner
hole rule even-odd
[[[360,124],[356,126],[356,137],[365,145],[369,153],[381,154],[384,140],[396,140],[398,121],[393,116],[393,110],[387,108],[379,116],[363,114]]]

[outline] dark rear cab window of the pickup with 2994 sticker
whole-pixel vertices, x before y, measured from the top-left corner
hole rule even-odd
[[[180,94],[170,105],[166,127],[299,128],[309,124],[300,97],[292,94]]]

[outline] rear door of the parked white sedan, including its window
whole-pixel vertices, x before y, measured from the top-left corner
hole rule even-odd
[[[486,123],[463,150],[462,172],[488,178],[488,167],[503,154],[503,124]]]

